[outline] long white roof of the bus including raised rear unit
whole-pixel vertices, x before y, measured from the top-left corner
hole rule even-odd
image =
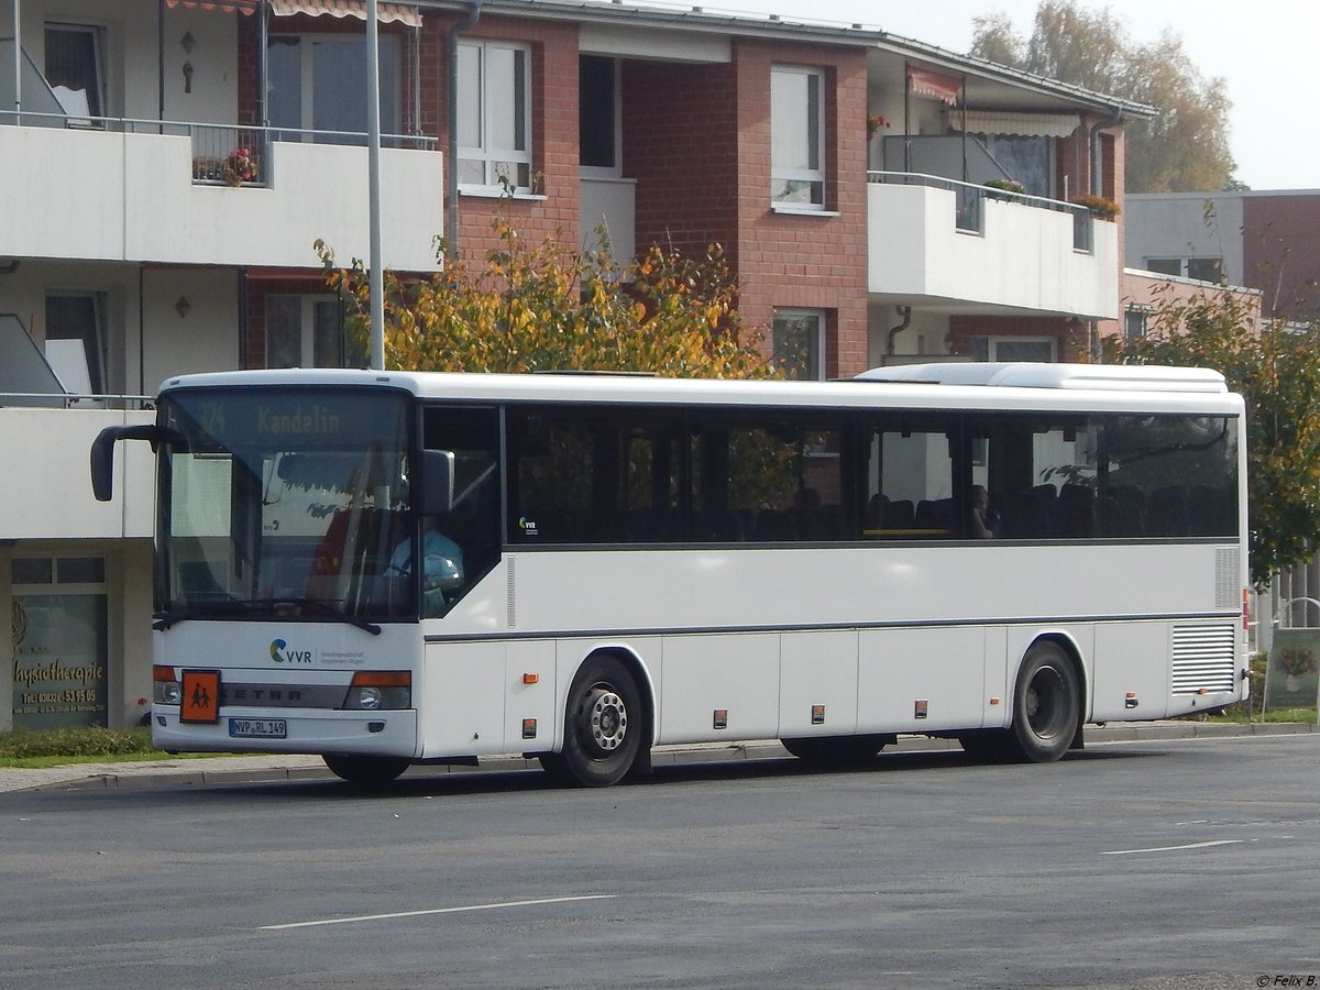
[[[995,385],[986,388],[985,385]],[[612,374],[461,374],[284,368],[181,375],[161,385],[376,387],[461,401],[709,404],[891,409],[1060,409],[1228,413],[1242,411],[1224,378],[1204,368],[1086,364],[921,364],[876,368],[847,381],[672,379]]]

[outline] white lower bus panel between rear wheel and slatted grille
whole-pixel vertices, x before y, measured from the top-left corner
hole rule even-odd
[[[1168,693],[1168,623],[1105,623],[1096,630],[1092,721],[1163,718]],[[1131,693],[1135,708],[1129,708]]]

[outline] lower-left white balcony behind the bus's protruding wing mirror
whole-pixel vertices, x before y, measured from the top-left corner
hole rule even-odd
[[[91,442],[106,426],[152,422],[154,413],[136,401],[106,408],[32,408],[36,399],[0,395],[0,450],[11,470],[0,473],[0,540],[90,540],[149,537],[154,516],[152,450],[120,444],[115,451],[115,498],[91,494]],[[71,401],[66,396],[55,397]],[[40,451],[37,454],[36,451]]]

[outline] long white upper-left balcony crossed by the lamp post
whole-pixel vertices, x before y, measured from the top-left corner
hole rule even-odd
[[[22,190],[3,257],[315,268],[317,238],[343,261],[370,253],[362,135],[44,117],[0,112],[0,161]],[[430,139],[392,143],[414,147],[380,152],[384,264],[434,271],[444,156]],[[234,173],[244,145],[256,168]]]

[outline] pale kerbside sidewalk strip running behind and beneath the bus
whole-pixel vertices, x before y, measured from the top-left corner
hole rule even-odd
[[[1254,735],[1290,735],[1317,733],[1304,722],[1253,722],[1228,725],[1214,722],[1129,722],[1097,729],[1086,727],[1086,746],[1115,742],[1201,739]],[[956,750],[952,739],[928,739],[902,735],[898,746],[886,752],[923,750]],[[704,743],[693,746],[657,746],[651,762],[656,767],[680,763],[729,763],[735,760],[788,759],[788,752],[774,739],[748,743]],[[440,774],[473,774],[492,771],[539,770],[536,760],[517,756],[483,759],[478,767],[422,766],[405,776]],[[0,767],[0,793],[7,791],[53,791],[107,787],[203,787],[207,784],[256,783],[271,780],[330,780],[334,775],[319,756],[199,756],[195,759],[140,760],[131,763],[74,763],[65,767],[21,770]]]

